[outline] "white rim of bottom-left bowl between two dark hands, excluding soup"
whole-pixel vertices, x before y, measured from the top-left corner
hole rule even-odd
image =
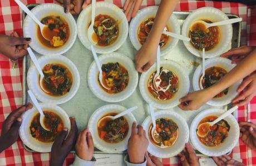
[[[70,118],[61,107],[56,105],[48,105],[46,103],[40,103],[40,106],[43,111],[52,111],[60,116],[63,121],[63,127],[68,128],[68,131],[70,131]],[[19,127],[19,137],[21,137],[22,142],[33,151],[41,153],[51,152],[53,142],[43,143],[31,136],[29,126],[31,125],[33,117],[35,117],[37,113],[38,111],[34,106],[31,110],[28,110],[22,114],[22,124],[21,127]]]

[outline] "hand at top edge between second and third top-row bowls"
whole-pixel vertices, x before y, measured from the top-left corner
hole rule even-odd
[[[130,21],[131,17],[134,18],[140,9],[142,0],[126,0],[124,5],[124,11],[127,21]]]

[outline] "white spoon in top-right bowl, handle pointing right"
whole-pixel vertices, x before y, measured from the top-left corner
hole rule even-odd
[[[220,22],[215,22],[215,23],[206,23],[203,20],[196,20],[193,25],[195,24],[202,24],[203,26],[200,27],[201,30],[205,30],[208,29],[210,27],[215,27],[215,26],[220,26],[220,25],[227,25],[227,24],[233,24],[233,23],[237,23],[237,22],[241,22],[242,18],[232,18],[232,19],[227,19],[227,20],[222,20]],[[190,27],[190,31],[194,31],[195,27],[198,28],[198,26],[191,26]]]

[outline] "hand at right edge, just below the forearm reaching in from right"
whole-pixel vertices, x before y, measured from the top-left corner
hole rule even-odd
[[[234,105],[243,106],[250,102],[256,94],[256,72],[246,77],[242,84],[239,85],[237,91],[239,95],[232,100]]]

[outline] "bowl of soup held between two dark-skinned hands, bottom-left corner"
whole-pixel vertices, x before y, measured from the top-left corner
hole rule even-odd
[[[63,128],[70,131],[70,119],[61,107],[40,103],[45,114],[43,123],[49,129],[46,131],[40,124],[40,113],[36,107],[22,114],[22,124],[19,128],[19,137],[22,142],[36,152],[51,152],[51,147],[55,139]]]

